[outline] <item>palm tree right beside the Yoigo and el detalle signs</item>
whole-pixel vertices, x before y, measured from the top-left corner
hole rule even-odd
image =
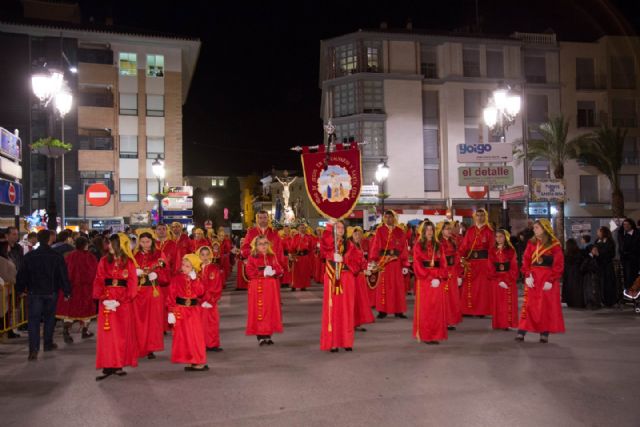
[[[514,155],[516,160],[523,160],[525,157],[530,162],[544,159],[549,162],[553,176],[564,182],[564,164],[576,158],[577,147],[587,140],[587,135],[579,135],[568,140],[569,119],[560,114],[540,124],[537,132],[540,139],[530,139],[527,141],[525,152],[522,141],[516,141]],[[556,217],[556,231],[560,241],[564,244],[564,201],[558,202],[558,215]]]

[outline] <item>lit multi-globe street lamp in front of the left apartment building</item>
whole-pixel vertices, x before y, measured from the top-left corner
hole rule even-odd
[[[31,76],[31,88],[33,94],[40,100],[45,108],[53,101],[53,115],[49,116],[49,132],[53,134],[53,121],[55,118],[55,111],[60,114],[62,119],[62,135],[61,139],[64,142],[64,116],[71,111],[71,105],[73,104],[73,95],[69,90],[69,86],[64,81],[64,75],[56,70],[51,70],[46,73],[36,73]],[[47,228],[49,230],[55,230],[58,221],[58,207],[56,205],[56,159],[55,157],[48,158],[49,180],[47,197],[49,201],[47,203]],[[65,215],[65,188],[64,188],[64,154],[62,155],[62,227],[64,228],[64,215]]]

